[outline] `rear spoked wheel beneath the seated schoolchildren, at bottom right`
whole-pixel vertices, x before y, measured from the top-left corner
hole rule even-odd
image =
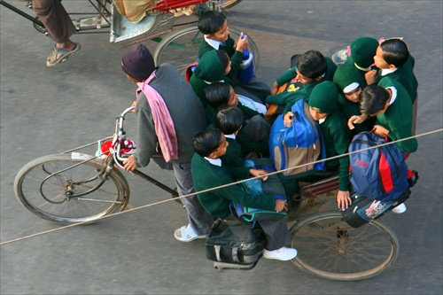
[[[379,221],[354,229],[339,212],[315,213],[295,223],[290,233],[291,246],[299,252],[292,262],[309,274],[331,280],[377,276],[399,253],[392,229]]]

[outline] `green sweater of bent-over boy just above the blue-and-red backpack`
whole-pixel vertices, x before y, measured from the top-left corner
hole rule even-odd
[[[401,86],[400,82],[385,77],[378,86],[383,88],[394,87],[397,89],[397,97],[392,105],[389,105],[385,113],[377,115],[377,125],[381,125],[389,130],[388,137],[392,140],[407,138],[412,136],[412,100],[408,91]],[[397,143],[401,151],[414,152],[418,147],[416,138]]]

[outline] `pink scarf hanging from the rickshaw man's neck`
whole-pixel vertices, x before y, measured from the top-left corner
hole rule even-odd
[[[157,90],[153,89],[149,82],[155,77],[155,71],[144,82],[138,82],[136,97],[140,91],[148,99],[151,107],[152,120],[154,121],[155,134],[159,138],[159,145],[163,158],[168,162],[170,159],[178,159],[177,135],[175,134],[174,121],[167,110],[167,105]]]

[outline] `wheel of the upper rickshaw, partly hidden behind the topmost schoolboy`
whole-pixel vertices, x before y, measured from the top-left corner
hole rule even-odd
[[[240,36],[240,32],[236,28],[229,27],[229,32],[230,37],[234,40]],[[253,53],[254,71],[257,71],[260,63],[259,49],[251,37],[248,40],[248,49]],[[201,42],[205,41],[198,27],[186,27],[173,32],[157,46],[154,54],[155,65],[169,63],[183,73],[187,66],[198,61],[198,48]]]

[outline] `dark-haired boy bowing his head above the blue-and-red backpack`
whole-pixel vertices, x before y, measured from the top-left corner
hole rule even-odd
[[[408,91],[400,82],[385,77],[378,85],[368,85],[361,92],[359,106],[363,115],[377,117],[374,132],[378,136],[387,136],[391,140],[412,136],[412,103]],[[406,153],[416,151],[418,146],[416,138],[396,144]]]

